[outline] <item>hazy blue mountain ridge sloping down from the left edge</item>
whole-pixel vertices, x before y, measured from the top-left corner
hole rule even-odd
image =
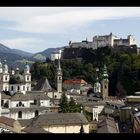
[[[21,51],[18,49],[10,49],[7,46],[3,45],[0,43],[0,53],[13,53],[13,54],[18,54],[22,57],[31,57],[33,54],[25,51]]]

